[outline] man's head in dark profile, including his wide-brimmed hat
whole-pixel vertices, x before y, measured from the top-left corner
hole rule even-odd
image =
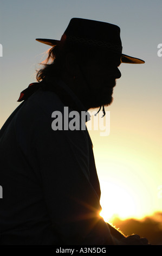
[[[36,40],[54,46],[49,52],[52,63],[38,72],[38,81],[59,75],[87,109],[112,102],[121,62],[144,63],[122,54],[120,28],[106,22],[74,18],[60,41]]]

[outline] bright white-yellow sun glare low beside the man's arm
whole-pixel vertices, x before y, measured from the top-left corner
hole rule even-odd
[[[96,155],[100,156],[99,152]],[[112,222],[115,217],[125,220],[152,215],[159,200],[151,160],[149,166],[147,159],[124,150],[116,155],[108,151],[104,157],[96,159],[103,219]]]

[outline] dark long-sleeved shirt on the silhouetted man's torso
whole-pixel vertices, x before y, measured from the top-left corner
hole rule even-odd
[[[83,109],[66,84],[58,84]],[[112,244],[99,216],[100,185],[87,129],[51,128],[51,114],[60,111],[64,118],[64,106],[55,92],[39,88],[1,129],[2,245]]]

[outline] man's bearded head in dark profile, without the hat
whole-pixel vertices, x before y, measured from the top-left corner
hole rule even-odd
[[[118,69],[120,58],[120,54],[101,50],[95,50],[90,56],[86,54],[81,58],[69,53],[62,78],[87,109],[108,106],[113,100],[116,79],[121,77]]]

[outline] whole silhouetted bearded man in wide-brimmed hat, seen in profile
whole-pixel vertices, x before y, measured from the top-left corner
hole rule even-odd
[[[111,104],[120,63],[144,61],[122,54],[120,28],[105,22],[72,19],[60,41],[37,40],[52,46],[47,64],[0,134],[0,243],[147,244],[100,217],[100,185],[83,125],[89,108],[103,107],[105,114]]]

